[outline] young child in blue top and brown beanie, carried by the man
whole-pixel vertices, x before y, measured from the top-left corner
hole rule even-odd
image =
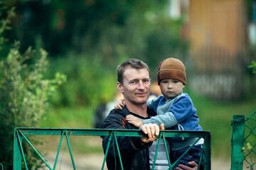
[[[196,115],[196,108],[188,94],[183,93],[186,85],[186,68],[184,64],[175,58],[168,58],[159,63],[157,81],[161,89],[161,96],[148,101],[148,109],[154,110],[157,114],[150,119],[142,120],[134,115],[127,115],[126,120],[138,128],[146,123],[164,123],[168,130],[203,130],[198,125],[199,118]],[[116,104],[116,109],[122,109],[124,100]],[[167,137],[171,143],[171,162],[176,162],[178,157],[186,152],[198,138],[194,137]],[[199,140],[174,166],[195,161],[197,164],[203,147],[203,139]],[[203,159],[201,168],[203,168]]]

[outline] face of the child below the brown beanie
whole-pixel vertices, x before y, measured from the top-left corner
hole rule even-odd
[[[185,87],[181,81],[176,79],[164,79],[160,81],[161,93],[167,98],[173,98],[181,94],[182,89]]]

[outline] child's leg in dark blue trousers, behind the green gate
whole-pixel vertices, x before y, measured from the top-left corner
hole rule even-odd
[[[173,164],[174,162],[176,162],[176,160],[181,157],[181,155],[186,152],[186,150],[189,147],[185,147],[183,149],[179,149],[176,151],[171,151],[171,163]],[[174,165],[174,169],[178,166],[178,164],[184,164],[186,166],[188,166],[188,162],[194,161],[197,164],[199,164],[200,161],[200,155],[202,150],[203,145],[195,145],[193,147],[191,147],[191,149],[177,162],[177,164]],[[203,157],[201,160],[201,167],[200,169],[203,169]]]

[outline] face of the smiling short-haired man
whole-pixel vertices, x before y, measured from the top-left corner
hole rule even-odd
[[[123,77],[123,84],[117,82],[117,89],[124,95],[125,103],[145,104],[149,98],[151,86],[149,71],[128,67]]]

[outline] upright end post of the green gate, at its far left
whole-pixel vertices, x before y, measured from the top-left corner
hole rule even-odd
[[[21,149],[18,146],[18,132],[14,131],[14,170],[21,169]]]

